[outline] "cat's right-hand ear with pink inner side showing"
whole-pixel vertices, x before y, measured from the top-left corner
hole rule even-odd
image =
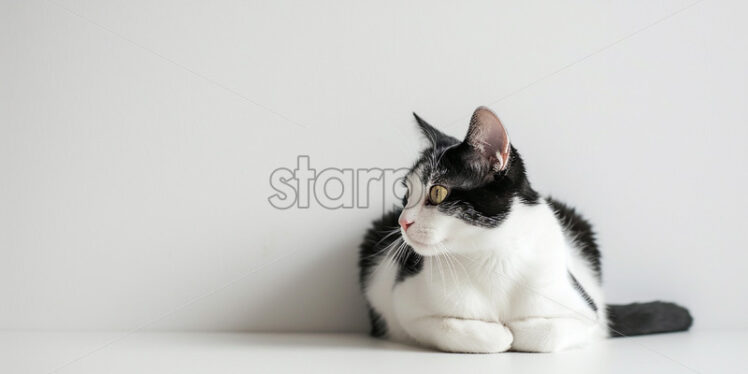
[[[509,166],[509,134],[490,109],[481,106],[473,112],[464,143],[492,170],[502,171]]]

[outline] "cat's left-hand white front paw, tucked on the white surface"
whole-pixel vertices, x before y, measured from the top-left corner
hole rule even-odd
[[[442,334],[436,336],[435,346],[447,352],[497,353],[509,350],[512,332],[496,322],[474,319],[443,318]]]

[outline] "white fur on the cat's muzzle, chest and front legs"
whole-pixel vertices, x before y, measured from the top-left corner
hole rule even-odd
[[[424,256],[423,269],[396,282],[385,256],[366,297],[387,323],[387,337],[450,352],[553,352],[607,336],[599,282],[545,201],[514,201],[494,229],[469,225],[423,204],[428,186],[408,178],[412,221],[402,240]],[[400,244],[399,241],[393,243]],[[577,290],[576,277],[598,306]]]

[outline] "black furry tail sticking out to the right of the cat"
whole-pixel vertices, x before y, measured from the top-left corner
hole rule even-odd
[[[688,309],[663,301],[608,305],[611,337],[686,331],[693,318]]]

